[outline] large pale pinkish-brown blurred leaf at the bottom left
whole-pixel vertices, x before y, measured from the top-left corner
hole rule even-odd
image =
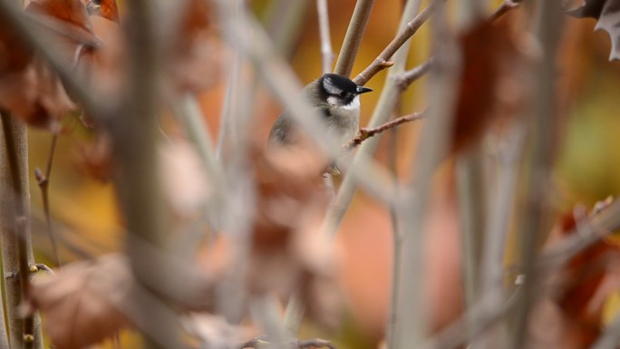
[[[127,260],[109,255],[35,279],[32,301],[45,314],[44,329],[53,344],[79,349],[129,325],[120,309],[127,308],[133,285]]]

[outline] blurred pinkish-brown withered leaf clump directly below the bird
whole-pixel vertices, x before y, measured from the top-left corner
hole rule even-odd
[[[332,326],[337,263],[334,242],[320,232],[326,206],[320,174],[326,163],[303,142],[254,154],[257,212],[247,286],[257,294],[297,293],[308,316]]]

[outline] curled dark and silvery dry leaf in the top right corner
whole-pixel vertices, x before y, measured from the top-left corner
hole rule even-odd
[[[595,30],[603,29],[611,39],[612,49],[609,60],[620,59],[620,1],[586,0],[584,5],[567,11],[577,18],[596,19]]]

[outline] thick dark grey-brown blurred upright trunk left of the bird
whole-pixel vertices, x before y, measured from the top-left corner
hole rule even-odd
[[[165,271],[170,270],[161,257],[167,246],[168,222],[157,163],[163,40],[156,34],[160,33],[156,30],[157,3],[134,0],[127,7],[128,91],[124,93],[122,109],[111,118],[108,128],[118,166],[114,179],[128,230],[126,253],[138,285],[153,289],[168,282],[169,272]],[[145,245],[160,254],[145,254]],[[161,347],[154,339],[156,336],[178,342],[178,324],[165,307],[150,306],[137,292],[133,302],[139,309],[145,347]]]

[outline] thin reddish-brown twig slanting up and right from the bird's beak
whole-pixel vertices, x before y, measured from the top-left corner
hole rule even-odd
[[[393,62],[390,61],[392,55],[394,55],[394,53],[396,53],[404,43],[411,39],[413,34],[420,29],[421,25],[431,17],[435,9],[441,6],[444,2],[445,0],[432,0],[431,4],[426,6],[419,15],[416,15],[415,18],[407,24],[404,30],[393,38],[392,42],[383,49],[382,53],[379,53],[379,56],[373,61],[373,63],[367,66],[362,73],[355,76],[354,82],[358,85],[363,85],[371,80],[376,73],[381,72],[385,68],[391,67],[393,65]]]

